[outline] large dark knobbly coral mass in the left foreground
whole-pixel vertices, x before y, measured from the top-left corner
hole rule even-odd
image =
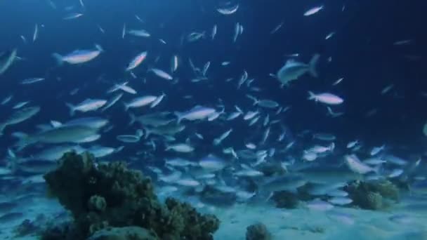
[[[171,198],[161,204],[150,178],[121,162],[97,164],[91,154],[70,152],[44,178],[49,194],[72,213],[70,234],[78,239],[107,227],[134,226],[154,239],[204,240],[213,239],[219,227],[216,216],[197,213],[189,204]]]

